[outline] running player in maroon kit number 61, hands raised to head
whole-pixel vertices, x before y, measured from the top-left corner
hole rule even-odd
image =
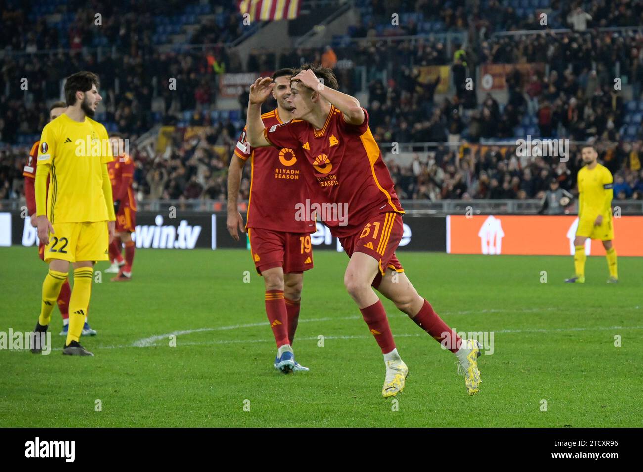
[[[467,392],[479,391],[477,341],[461,340],[417,294],[395,257],[403,232],[404,210],[368,127],[368,113],[356,98],[338,91],[331,69],[302,66],[291,81],[293,120],[264,127],[261,104],[273,88],[269,78],[250,87],[248,141],[253,147],[298,149],[311,166],[326,201],[349,206],[348,220],[332,226],[350,257],[344,284],[384,354],[384,397],[404,388],[408,368],[400,358],[375,287],[435,340],[442,340],[464,368]],[[317,198],[317,197],[315,197]]]

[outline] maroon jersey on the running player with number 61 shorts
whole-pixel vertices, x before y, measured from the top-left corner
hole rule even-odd
[[[329,203],[347,209],[336,211],[340,221],[329,221],[333,235],[344,237],[360,231],[369,217],[385,212],[404,213],[397,199],[393,181],[382,159],[373,133],[368,127],[368,113],[364,122],[352,125],[343,113],[331,105],[331,113],[322,129],[303,120],[266,126],[264,136],[277,148],[299,149],[307,159],[317,183],[312,199],[319,194]],[[341,221],[341,217],[344,217]]]

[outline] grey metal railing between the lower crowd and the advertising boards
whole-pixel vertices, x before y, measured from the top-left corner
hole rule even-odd
[[[536,215],[543,206],[538,199],[529,200],[403,200],[406,216],[419,215],[487,215],[514,214]],[[225,212],[224,200],[141,200],[136,202],[138,211],[170,213],[176,212]],[[611,204],[620,215],[643,215],[643,200],[614,200]],[[245,213],[248,202],[239,203],[239,210]],[[0,200],[0,212],[26,212],[24,199]],[[574,214],[574,211],[570,211]]]

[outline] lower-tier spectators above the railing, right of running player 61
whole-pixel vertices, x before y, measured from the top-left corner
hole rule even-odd
[[[440,146],[428,156],[415,153],[412,163],[401,167],[386,159],[400,199],[542,199],[550,185],[574,193],[576,174],[583,166],[580,147],[572,147],[570,160],[535,158],[521,164],[511,150],[489,146],[478,158]],[[615,174],[614,198],[643,199],[643,152],[634,145],[605,149],[599,155]],[[620,169],[620,170],[616,170]]]

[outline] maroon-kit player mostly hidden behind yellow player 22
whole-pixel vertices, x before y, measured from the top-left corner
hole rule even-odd
[[[65,102],[56,102],[55,104],[51,105],[49,109],[49,121],[53,122],[53,120],[64,113],[66,108],[67,105],[65,104]],[[38,164],[37,157],[39,145],[40,141],[36,141],[33,144],[32,150],[27,158],[27,163],[23,168],[24,198],[27,201],[27,211],[29,212],[30,221],[34,228],[36,227],[36,199],[33,183],[35,182],[36,178],[35,169],[36,165]],[[50,181],[48,178],[46,186],[47,191],[49,191],[49,183]],[[41,260],[44,260],[44,244],[42,244],[42,242],[39,242],[38,244],[38,257],[40,257]],[[62,284],[62,287],[60,287],[60,295],[58,296],[57,300],[58,309],[60,310],[60,314],[62,315],[62,331],[60,331],[60,336],[67,336],[69,328],[69,295],[71,295],[71,287],[69,287],[69,282],[65,280],[64,284]],[[85,323],[82,327],[82,335],[96,336],[96,334],[98,333],[95,330],[91,329],[91,327],[89,326],[86,314]]]

